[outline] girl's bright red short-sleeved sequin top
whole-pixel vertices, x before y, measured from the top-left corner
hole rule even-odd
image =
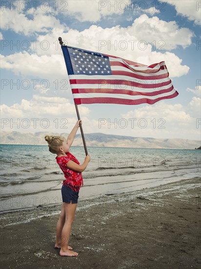
[[[70,152],[67,152],[66,156],[56,157],[56,160],[65,177],[61,184],[66,184],[66,186],[70,187],[72,190],[79,192],[80,187],[83,186],[82,175],[79,172],[69,169],[66,166],[66,163],[69,162],[69,160],[72,160],[77,164],[80,164],[80,162]]]

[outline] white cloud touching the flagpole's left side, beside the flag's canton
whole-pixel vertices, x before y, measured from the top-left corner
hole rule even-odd
[[[19,87],[36,90],[40,95],[57,94],[72,98],[62,51],[60,55],[41,55],[19,52],[8,56],[0,55],[1,68],[19,75]],[[16,80],[15,80],[16,81]],[[11,82],[10,82],[11,83]]]

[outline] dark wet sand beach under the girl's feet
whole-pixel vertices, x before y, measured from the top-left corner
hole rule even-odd
[[[54,249],[60,206],[3,214],[1,268],[199,269],[200,182],[79,201],[69,242],[78,257],[60,257]]]

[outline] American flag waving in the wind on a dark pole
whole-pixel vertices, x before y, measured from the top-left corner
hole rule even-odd
[[[150,105],[176,97],[164,62],[145,66],[116,56],[61,46],[74,102]]]

